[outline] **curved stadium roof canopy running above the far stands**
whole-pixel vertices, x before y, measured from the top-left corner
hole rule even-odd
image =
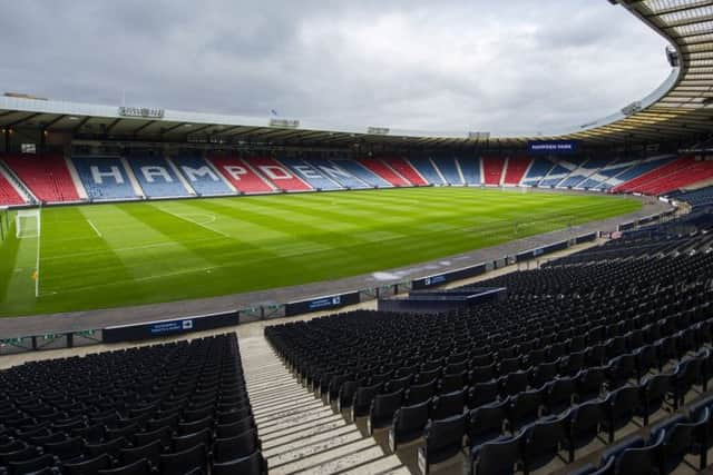
[[[330,130],[329,125],[274,118],[137,109],[0,97],[2,129],[40,128],[94,139],[167,142],[264,144],[345,147],[355,144],[472,147],[524,146],[529,140],[575,139],[592,145],[651,144],[710,135],[713,131],[713,1],[609,0],[648,24],[672,46],[671,76],[646,98],[625,110],[573,130],[549,136],[490,137],[388,129]],[[614,82],[612,87],[616,87]],[[297,127],[295,127],[297,126]]]

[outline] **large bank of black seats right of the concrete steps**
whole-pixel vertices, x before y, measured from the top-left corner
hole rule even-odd
[[[712,420],[713,398],[696,400],[713,379],[711,250],[709,234],[625,236],[478,283],[507,287],[501,303],[361,310],[265,336],[315,395],[388,429],[392,451],[418,441],[420,473],[463,448],[465,473],[530,473],[597,438],[613,444],[597,465],[617,473],[671,473],[685,453],[702,469],[702,429],[683,446],[674,437]],[[622,448],[632,434],[643,438]],[[670,452],[646,455],[652,472],[625,469],[639,446]]]

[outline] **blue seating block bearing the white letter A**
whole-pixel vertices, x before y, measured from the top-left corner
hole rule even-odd
[[[147,198],[172,198],[188,196],[174,168],[160,156],[134,155],[127,157],[134,176]],[[195,191],[191,190],[191,195]]]

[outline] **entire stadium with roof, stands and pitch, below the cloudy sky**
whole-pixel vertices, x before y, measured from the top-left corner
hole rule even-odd
[[[713,1],[600,3],[557,133],[1,96],[0,475],[711,473]]]

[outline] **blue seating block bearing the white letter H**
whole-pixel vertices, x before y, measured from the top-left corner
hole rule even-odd
[[[137,197],[129,175],[119,158],[75,157],[71,160],[90,199],[131,199]]]

